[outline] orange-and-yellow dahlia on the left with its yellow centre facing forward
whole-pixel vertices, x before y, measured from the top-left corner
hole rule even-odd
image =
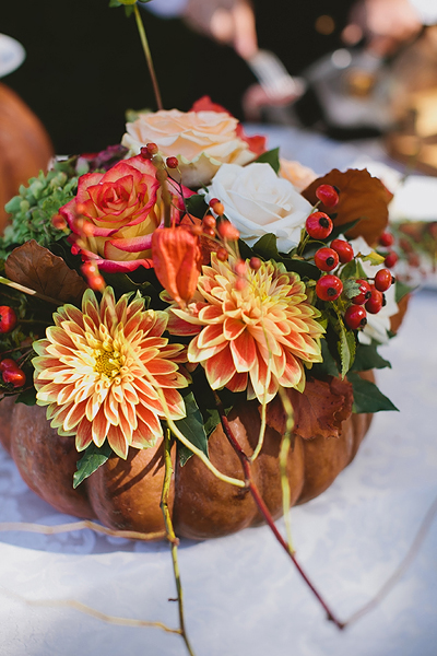
[[[126,458],[129,446],[153,445],[166,415],[158,388],[172,419],[186,414],[177,391],[188,385],[177,364],[186,361],[184,347],[162,337],[166,313],[145,311],[140,296],[131,303],[129,296],[116,303],[106,288],[98,303],[86,290],[82,311],[58,308],[47,339],[34,343],[37,403],[48,406],[47,419],[60,435],[75,435],[78,450],[107,437]]]

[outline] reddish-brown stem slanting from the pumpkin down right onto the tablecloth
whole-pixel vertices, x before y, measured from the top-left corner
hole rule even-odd
[[[296,566],[298,573],[300,574],[300,576],[303,577],[303,579],[305,581],[305,583],[307,584],[307,586],[309,587],[309,589],[312,591],[312,594],[316,596],[316,598],[319,600],[319,602],[321,604],[321,606],[323,607],[326,613],[327,613],[327,618],[329,621],[333,622],[339,629],[344,629],[345,624],[343,622],[341,622],[340,620],[338,620],[335,618],[335,616],[333,614],[333,612],[331,611],[331,609],[329,608],[328,604],[324,601],[324,599],[321,597],[320,593],[318,593],[318,590],[315,588],[315,586],[312,585],[312,583],[309,581],[308,576],[305,574],[304,570],[302,569],[302,566],[299,565],[299,563],[296,560],[296,555],[294,554],[293,551],[291,551],[287,542],[284,540],[284,538],[282,537],[282,535],[280,534],[280,531],[277,530],[273,517],[270,514],[269,508],[267,507],[257,484],[253,482],[252,479],[252,472],[251,472],[251,466],[250,466],[250,460],[248,458],[248,456],[245,454],[245,452],[243,450],[243,448],[240,447],[240,445],[238,444],[237,440],[235,438],[229,422],[227,421],[227,417],[225,414],[225,410],[223,407],[222,401],[220,400],[218,396],[216,394],[214,394],[215,396],[215,405],[217,407],[218,410],[218,414],[220,414],[220,419],[222,422],[222,426],[223,426],[223,431],[227,437],[227,440],[231,443],[231,446],[234,448],[234,450],[236,452],[237,456],[240,459],[241,462],[241,467],[243,467],[243,471],[245,473],[245,479],[248,485],[248,489],[253,497],[255,503],[258,506],[258,509],[260,511],[260,513],[262,514],[262,516],[265,519],[265,523],[268,524],[268,526],[270,527],[270,529],[272,530],[274,537],[276,538],[276,540],[279,541],[279,543],[281,544],[281,547],[286,551],[286,553],[290,555],[290,558],[292,559],[294,565]]]

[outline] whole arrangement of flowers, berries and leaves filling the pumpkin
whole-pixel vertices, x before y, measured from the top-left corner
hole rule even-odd
[[[134,0],[113,4],[138,16]],[[194,455],[247,488],[295,560],[250,467],[269,425],[281,426],[286,462],[294,434],[335,437],[352,411],[395,409],[358,375],[389,366],[378,347],[408,292],[378,253],[390,198],[367,171],[317,178],[280,160],[209,98],[188,113],[139,114],[120,144],[55,162],[7,206],[2,395],[46,407],[51,427],[75,441],[75,488],[111,458],[164,441],[165,500],[175,440],[181,465]],[[347,406],[335,421],[333,379]],[[227,421],[245,400],[261,417],[250,457]],[[220,423],[243,479],[209,457]],[[282,482],[286,512],[284,471]]]

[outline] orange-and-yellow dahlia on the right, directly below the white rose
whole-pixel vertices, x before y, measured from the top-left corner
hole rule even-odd
[[[262,262],[255,271],[245,262],[243,279],[233,262],[215,254],[203,267],[194,301],[186,309],[170,308],[168,329],[196,335],[189,362],[200,362],[213,389],[247,388],[249,399],[270,401],[280,386],[305,387],[303,363],[321,362],[323,328],[320,313],[305,293],[305,284],[282,263]],[[243,289],[240,289],[243,286]]]

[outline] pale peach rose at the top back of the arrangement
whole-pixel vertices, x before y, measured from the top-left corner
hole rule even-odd
[[[146,143],[156,143],[164,157],[179,160],[182,184],[200,187],[223,163],[244,165],[256,159],[237,127],[238,120],[225,112],[163,109],[127,124],[121,143],[133,155]]]

